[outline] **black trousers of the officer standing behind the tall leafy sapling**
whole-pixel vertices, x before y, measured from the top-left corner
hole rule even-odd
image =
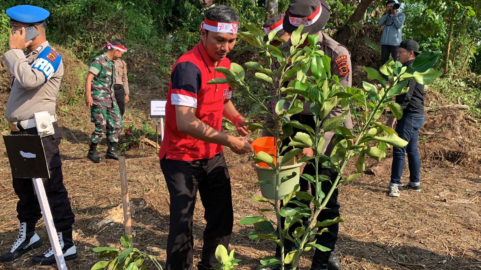
[[[291,116],[291,120],[297,120],[300,123],[308,125],[312,128],[314,128],[316,126],[316,124],[314,123],[313,116],[311,116],[311,115],[294,114],[293,116]],[[297,129],[297,128],[293,128],[293,131],[294,131],[293,135],[295,135],[297,132],[304,132],[305,133],[304,130],[300,130],[300,129]],[[282,145],[288,145],[290,141],[291,140],[289,138],[287,138],[283,141]],[[328,147],[326,149],[326,152],[324,154],[326,156],[330,156],[333,148],[334,148],[334,145],[332,144],[332,141],[331,141],[331,142],[329,142],[329,145],[328,145]],[[291,150],[291,147],[289,147],[285,151],[287,152],[289,150]],[[314,165],[313,164],[307,164],[304,167],[303,173],[310,174],[310,175],[316,175],[316,170],[314,168]],[[327,195],[329,193],[329,190],[332,187],[332,183],[334,182],[334,180],[336,180],[336,177],[337,177],[338,174],[334,169],[324,168],[324,167],[321,166],[321,164],[319,164],[317,173],[319,175],[329,176],[329,178],[330,178],[330,182],[329,181],[323,181],[323,182],[320,183],[322,192],[324,192],[324,194]],[[300,180],[299,180],[299,188],[300,188],[300,191],[308,192],[309,191],[309,182],[301,177]],[[316,192],[316,189],[314,188],[314,185],[311,184],[311,193],[312,193],[313,196],[315,196],[315,192]],[[329,198],[329,201],[326,204],[326,209],[323,209],[319,213],[319,215],[317,216],[317,221],[333,220],[336,217],[339,217],[339,209],[340,209],[341,206],[340,206],[340,204],[337,200],[338,194],[339,194],[339,190],[335,189],[334,192],[332,193],[332,196]],[[295,200],[295,199],[296,198],[293,198],[293,200]],[[308,200],[299,200],[299,201],[304,203],[304,204],[310,205],[310,201],[308,201]],[[282,207],[282,201],[281,201],[281,207]],[[293,204],[293,203],[289,203],[287,205],[287,207],[295,208],[295,207],[298,207],[298,205]],[[282,224],[284,224],[284,219],[285,218],[281,219]],[[306,224],[308,220],[307,220],[307,218],[304,218],[303,221],[304,221],[304,224]],[[297,225],[292,226],[289,229],[289,232],[293,233],[296,227],[298,227],[298,226]],[[331,251],[334,251],[334,247],[335,247],[336,242],[337,242],[337,234],[339,232],[339,224],[335,223],[335,224],[332,224],[332,225],[330,225],[326,228],[328,229],[328,232],[322,233],[321,235],[316,235],[316,244],[323,245],[323,246],[329,248]],[[322,229],[322,227],[320,229]],[[287,240],[287,241],[289,241],[289,240]],[[286,243],[286,245],[287,246],[293,245],[293,243]]]

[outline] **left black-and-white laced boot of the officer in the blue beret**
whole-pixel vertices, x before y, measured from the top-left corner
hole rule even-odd
[[[35,223],[19,222],[18,227],[17,240],[13,243],[10,252],[0,257],[0,261],[12,261],[43,244],[42,239],[35,233]]]

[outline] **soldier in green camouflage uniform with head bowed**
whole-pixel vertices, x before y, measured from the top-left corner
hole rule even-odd
[[[97,144],[102,135],[106,134],[109,148],[105,155],[107,159],[118,160],[115,147],[122,130],[122,116],[115,100],[114,78],[115,61],[127,49],[120,40],[107,42],[102,49],[106,52],[94,58],[90,64],[89,74],[85,83],[87,94],[86,105],[90,109],[91,122],[95,123],[95,130],[90,137],[90,149],[87,158],[93,162],[100,162],[102,158],[97,152]],[[106,128],[108,126],[108,128]]]

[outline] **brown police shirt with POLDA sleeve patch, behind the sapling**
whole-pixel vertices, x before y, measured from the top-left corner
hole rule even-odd
[[[322,37],[322,38],[321,38]],[[351,65],[351,53],[349,50],[329,37],[328,35],[324,34],[323,32],[319,32],[319,42],[317,43],[317,47],[321,50],[324,51],[324,53],[331,58],[331,74],[332,76],[337,75],[339,77],[339,82],[341,83],[342,86],[344,87],[351,87],[352,85],[352,65]],[[276,63],[276,67],[279,67],[279,63]],[[309,71],[311,73],[311,71]],[[293,79],[294,77],[292,77]],[[289,80],[291,81],[291,80]],[[285,82],[285,86],[288,85],[289,81]],[[276,90],[274,89],[273,86],[271,86],[271,95],[276,95]],[[304,110],[300,112],[300,114],[304,115],[312,115],[311,111],[309,110],[309,106],[311,105],[311,101],[305,101],[304,97],[299,97],[298,99],[303,101],[304,103]],[[270,106],[269,110],[275,114],[275,108],[277,104],[277,99],[271,98],[269,100]],[[289,107],[289,104],[285,104],[285,109],[287,110]],[[338,104],[334,109],[332,109],[326,119],[342,115],[345,110],[342,110],[341,104]],[[288,117],[288,116],[287,116]],[[267,121],[272,120],[270,119],[269,116],[267,116]],[[351,113],[348,113],[346,115],[346,120],[344,122],[344,125],[347,128],[352,128],[353,127],[353,122],[351,119]],[[327,146],[329,145],[332,137],[334,136],[334,131],[329,131],[326,132],[324,135],[324,139],[326,140],[326,143],[324,144],[324,147],[322,149],[322,153],[326,151]],[[269,136],[268,133],[263,133],[263,135]]]

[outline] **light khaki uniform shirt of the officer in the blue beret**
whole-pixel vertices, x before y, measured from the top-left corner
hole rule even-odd
[[[10,49],[2,56],[11,73],[11,91],[5,109],[9,122],[23,121],[34,117],[35,112],[48,111],[55,114],[55,103],[63,77],[63,62],[46,81],[45,75],[31,67],[38,54],[49,46],[45,41],[30,53]]]

